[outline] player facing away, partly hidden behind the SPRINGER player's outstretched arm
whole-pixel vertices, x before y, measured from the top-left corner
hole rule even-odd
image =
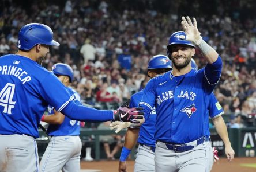
[[[73,69],[67,64],[57,63],[52,66],[52,72],[66,86],[67,91],[74,95],[75,103],[81,105],[80,95],[68,87],[73,80]],[[62,169],[63,172],[80,172],[80,122],[65,117],[61,112],[54,112],[51,105],[48,105],[48,114],[54,115],[43,115],[41,120],[50,124],[47,134],[51,139],[40,162],[40,171],[59,172]]]

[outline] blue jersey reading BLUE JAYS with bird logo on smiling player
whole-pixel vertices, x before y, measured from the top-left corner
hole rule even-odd
[[[148,82],[140,106],[146,120],[156,107],[156,140],[183,144],[206,134],[209,97],[215,86],[208,82],[209,77],[202,68],[175,77],[169,71]]]

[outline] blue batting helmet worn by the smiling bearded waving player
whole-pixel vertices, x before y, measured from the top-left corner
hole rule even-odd
[[[169,38],[169,44],[167,45],[167,54],[170,57],[171,55],[171,45],[175,44],[185,44],[185,45],[190,45],[195,48],[195,45],[186,40],[186,34],[183,31],[178,31],[172,33],[171,37]]]

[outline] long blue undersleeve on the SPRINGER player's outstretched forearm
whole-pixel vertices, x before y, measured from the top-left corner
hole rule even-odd
[[[104,122],[114,120],[113,111],[96,110],[94,108],[85,107],[84,105],[77,105],[74,101],[69,101],[61,112],[70,119],[85,122]]]

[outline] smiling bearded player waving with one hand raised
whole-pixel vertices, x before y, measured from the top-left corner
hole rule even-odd
[[[156,108],[155,170],[158,171],[210,171],[213,158],[210,145],[208,105],[210,95],[221,75],[222,61],[197,29],[197,21],[182,17],[185,32],[171,35],[167,46],[173,70],[151,79],[144,89],[140,105],[145,121]],[[205,68],[191,69],[195,46],[201,50],[208,64]],[[225,144],[228,160],[234,158],[221,116],[214,124]]]

